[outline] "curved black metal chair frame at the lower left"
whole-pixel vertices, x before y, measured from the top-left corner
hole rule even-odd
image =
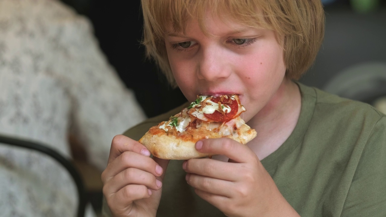
[[[24,139],[17,139],[14,137],[8,137],[4,135],[0,135],[0,143],[10,146],[17,146],[17,147],[24,147],[27,149],[32,149],[35,151],[39,151],[41,153],[47,154],[54,160],[58,161],[71,175],[71,177],[74,180],[74,183],[76,184],[76,188],[78,190],[78,210],[77,210],[77,217],[84,217],[85,215],[85,207],[86,207],[86,191],[85,191],[85,185],[83,183],[83,180],[79,174],[79,172],[76,170],[74,165],[69,161],[68,159],[64,158],[60,153],[57,151],[49,148],[48,146],[45,146],[44,144],[38,143],[38,142],[32,142],[27,141]]]

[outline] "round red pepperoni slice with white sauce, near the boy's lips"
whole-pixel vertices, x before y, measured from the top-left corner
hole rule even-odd
[[[211,99],[212,102],[221,102],[222,105],[227,105],[230,107],[229,113],[221,113],[219,111],[213,112],[213,114],[205,114],[205,117],[207,117],[210,120],[214,120],[216,122],[227,122],[233,119],[233,117],[237,114],[237,111],[239,110],[239,103],[237,103],[237,100],[232,100],[230,97],[223,98],[223,97],[213,97]]]

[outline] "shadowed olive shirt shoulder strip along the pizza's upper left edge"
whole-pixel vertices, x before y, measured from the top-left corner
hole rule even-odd
[[[157,125],[160,122],[166,121],[170,116],[173,116],[180,112],[183,108],[188,106],[188,102],[180,105],[179,107],[173,108],[172,110],[158,115],[156,117],[149,118],[144,122],[135,125],[134,127],[128,129],[124,132],[124,135],[130,137],[134,140],[139,140],[147,131],[149,131],[150,127]]]

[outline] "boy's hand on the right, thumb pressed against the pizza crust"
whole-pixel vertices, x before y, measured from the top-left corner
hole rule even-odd
[[[183,163],[188,184],[225,215],[299,216],[249,147],[220,138],[198,141],[196,149],[229,158],[228,162],[203,158]]]

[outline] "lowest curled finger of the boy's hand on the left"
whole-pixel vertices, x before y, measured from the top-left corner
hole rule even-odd
[[[117,193],[110,195],[107,203],[109,207],[125,209],[127,205],[131,204],[134,200],[149,198],[150,195],[151,190],[147,189],[144,185],[126,185]]]

